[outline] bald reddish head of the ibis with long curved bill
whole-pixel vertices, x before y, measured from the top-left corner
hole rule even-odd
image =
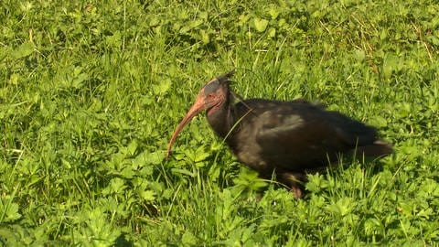
[[[192,118],[205,110],[207,110],[208,114],[213,113],[219,108],[220,105],[228,101],[230,77],[233,75],[233,73],[234,70],[231,70],[229,73],[212,79],[206,85],[204,85],[203,88],[201,88],[194,104],[192,107],[190,107],[180,124],[178,124],[174,134],[172,134],[171,140],[167,145],[166,159],[170,155],[171,146],[176,141],[177,135]]]

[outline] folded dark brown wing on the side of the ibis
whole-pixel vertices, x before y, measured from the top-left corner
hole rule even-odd
[[[273,166],[322,166],[328,158],[356,145],[355,137],[337,119],[311,104],[280,106],[261,113],[258,121],[256,141],[261,155]]]

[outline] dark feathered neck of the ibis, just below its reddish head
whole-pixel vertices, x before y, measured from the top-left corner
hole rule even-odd
[[[209,109],[207,118],[210,126],[221,138],[225,138],[230,133],[233,124],[233,104],[229,101],[220,104],[217,108]]]

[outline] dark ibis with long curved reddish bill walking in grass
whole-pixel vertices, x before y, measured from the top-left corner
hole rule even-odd
[[[201,88],[172,134],[166,160],[183,127],[203,111],[241,164],[262,178],[274,177],[296,199],[303,196],[308,174],[339,164],[342,156],[380,158],[393,152],[375,127],[328,111],[323,104],[305,99],[243,100],[230,88],[233,74],[231,70]]]

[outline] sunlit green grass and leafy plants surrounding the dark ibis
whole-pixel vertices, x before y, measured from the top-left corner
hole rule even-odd
[[[103,2],[0,2],[0,246],[439,242],[434,1]],[[313,175],[299,200],[204,117],[166,161],[233,68],[242,97],[324,102],[395,154]]]

